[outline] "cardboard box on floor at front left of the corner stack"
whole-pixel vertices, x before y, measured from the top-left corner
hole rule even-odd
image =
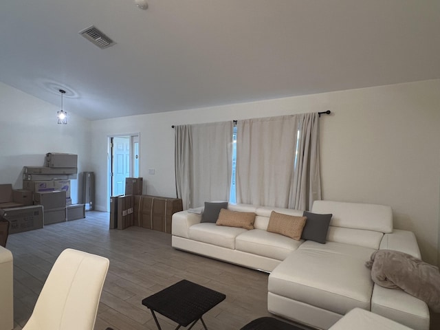
[[[9,233],[27,232],[43,228],[43,206],[23,206],[0,210],[2,217],[10,221]]]

